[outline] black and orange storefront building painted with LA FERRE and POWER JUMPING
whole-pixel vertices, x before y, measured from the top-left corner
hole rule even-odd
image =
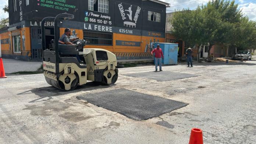
[[[9,27],[0,29],[4,58],[42,58],[41,20],[67,12],[75,19],[60,23],[60,35],[88,39],[85,48],[102,48],[118,59],[150,58],[154,42],[165,42],[166,6],[159,0],[9,0]],[[46,47],[54,23],[44,23]]]

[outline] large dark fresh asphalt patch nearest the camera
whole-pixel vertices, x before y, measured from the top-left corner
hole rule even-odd
[[[188,103],[123,88],[86,94],[77,96],[77,98],[139,121],[157,117],[188,105]]]

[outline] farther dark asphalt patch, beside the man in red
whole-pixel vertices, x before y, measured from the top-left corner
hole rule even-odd
[[[144,77],[146,79],[153,79],[159,82],[166,82],[170,80],[185,79],[185,78],[195,77],[200,75],[193,75],[193,74],[181,73],[181,72],[161,71],[161,72],[129,73],[129,74],[125,74],[125,76]]]

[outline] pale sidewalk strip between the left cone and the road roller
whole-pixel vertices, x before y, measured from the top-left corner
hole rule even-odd
[[[4,63],[4,71],[5,73],[15,73],[15,72],[32,72],[37,71],[41,65],[42,62],[30,62],[30,61],[20,61],[20,60],[14,60],[14,59],[6,59],[3,58]]]

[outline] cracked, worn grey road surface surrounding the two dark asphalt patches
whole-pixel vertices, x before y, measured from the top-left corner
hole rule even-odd
[[[154,71],[153,65],[123,68],[114,86],[89,82],[71,92],[49,86],[42,74],[0,79],[0,143],[187,144],[194,127],[203,130],[206,144],[255,143],[256,60],[193,68],[183,63],[163,70],[200,76],[157,82],[125,76]],[[117,88],[189,105],[136,121],[76,98]]]

